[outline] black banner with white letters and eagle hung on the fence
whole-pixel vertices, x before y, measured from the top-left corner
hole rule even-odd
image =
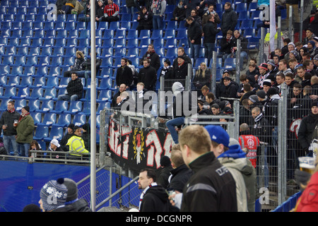
[[[110,119],[108,151],[122,167],[139,171],[145,167],[158,169],[163,155],[170,157],[173,143],[169,131],[120,126]]]

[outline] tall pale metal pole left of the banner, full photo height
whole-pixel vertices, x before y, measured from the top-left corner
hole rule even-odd
[[[95,0],[90,0],[95,8]],[[96,210],[96,47],[95,47],[95,10],[90,11],[90,208]]]

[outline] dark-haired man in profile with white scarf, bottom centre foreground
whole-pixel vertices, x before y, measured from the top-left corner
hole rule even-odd
[[[156,182],[154,169],[141,169],[138,180],[140,196],[140,212],[169,212],[170,202],[167,192]]]

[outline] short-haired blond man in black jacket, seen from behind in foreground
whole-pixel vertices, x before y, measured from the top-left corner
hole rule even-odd
[[[211,152],[208,131],[199,125],[187,126],[179,134],[179,143],[184,163],[194,172],[184,186],[181,211],[236,212],[235,180]]]

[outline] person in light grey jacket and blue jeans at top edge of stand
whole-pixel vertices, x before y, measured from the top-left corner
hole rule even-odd
[[[165,0],[154,0],[151,4],[151,11],[153,12],[153,29],[162,30],[163,29],[163,19],[165,18]]]

